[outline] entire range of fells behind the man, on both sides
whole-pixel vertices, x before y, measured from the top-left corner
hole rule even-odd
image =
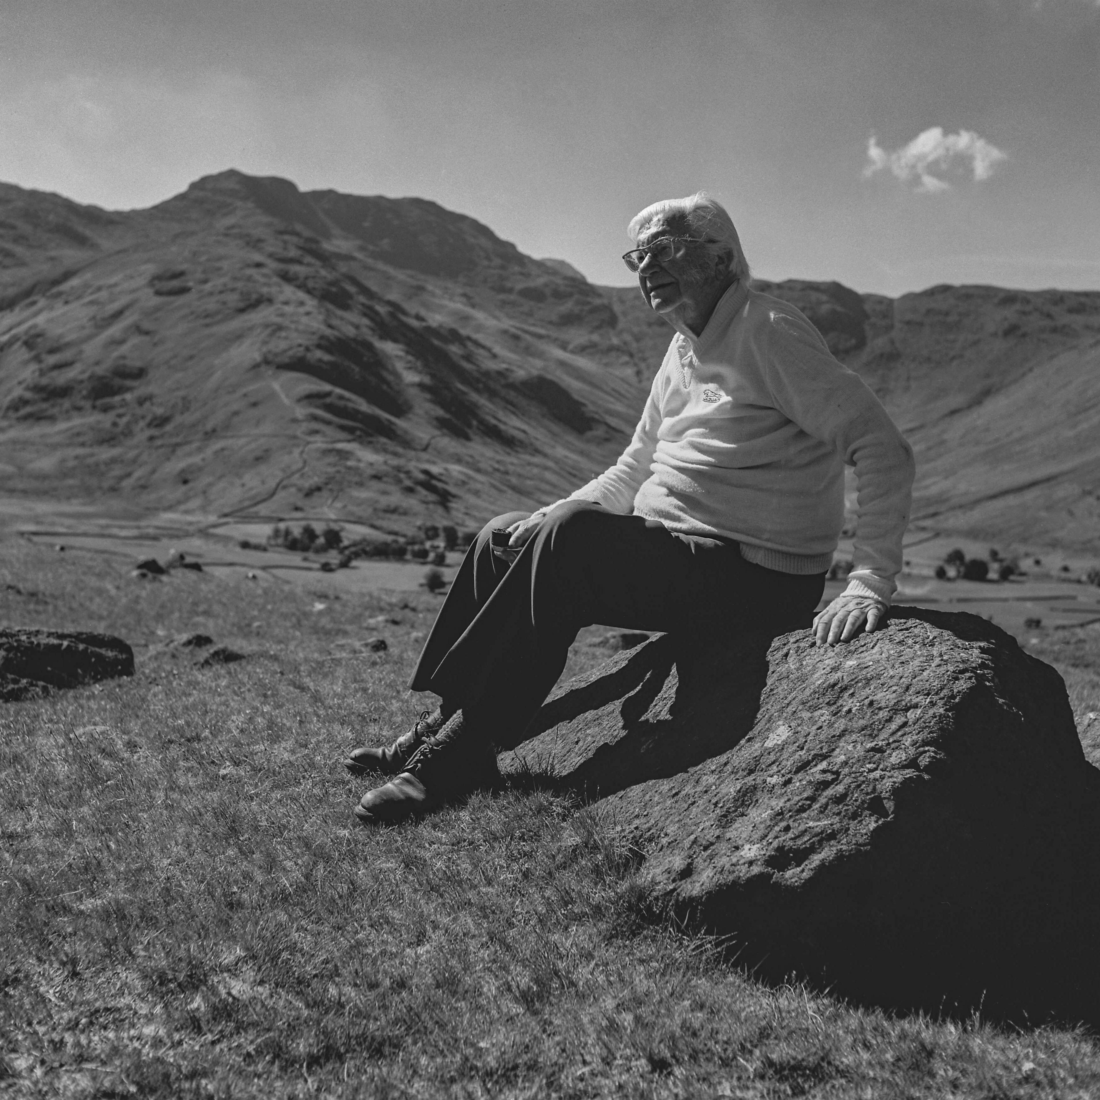
[[[424,199],[226,172],[107,212],[0,185],[0,474],[26,494],[479,522],[613,461],[670,336],[636,289]],[[757,286],[909,436],[917,522],[1094,544],[1100,293]]]

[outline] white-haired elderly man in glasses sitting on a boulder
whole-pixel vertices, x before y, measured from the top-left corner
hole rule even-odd
[[[498,516],[471,547],[410,685],[440,706],[345,761],[395,777],[363,796],[364,823],[429,810],[491,774],[582,626],[679,631],[696,645],[811,626],[846,464],[858,481],[855,568],[811,628],[835,645],[886,617],[909,520],[909,444],[802,314],[750,288],[722,206],[702,193],[657,202],[628,233],[636,248],[623,258],[675,329],[634,439],[572,496]],[[492,538],[502,528],[507,546]]]

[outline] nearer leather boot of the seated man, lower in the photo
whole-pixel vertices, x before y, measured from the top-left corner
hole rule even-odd
[[[461,723],[459,712],[439,734],[425,738],[403,772],[363,795],[355,816],[364,825],[404,821],[498,776],[492,746],[471,747],[463,744],[466,738],[454,736],[461,733]]]

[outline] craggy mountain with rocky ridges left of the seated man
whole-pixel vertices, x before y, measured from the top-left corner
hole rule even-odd
[[[127,215],[0,199],[24,493],[472,522],[602,469],[642,400],[595,287],[433,204],[240,173]]]

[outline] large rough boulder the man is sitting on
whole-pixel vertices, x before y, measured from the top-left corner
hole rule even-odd
[[[703,651],[659,636],[563,685],[528,733],[505,771],[596,801],[650,905],[781,975],[966,996],[1008,988],[1005,966],[1052,977],[1050,950],[1096,920],[1100,773],[1065,685],[974,615],[898,609],[821,649],[805,630]]]

